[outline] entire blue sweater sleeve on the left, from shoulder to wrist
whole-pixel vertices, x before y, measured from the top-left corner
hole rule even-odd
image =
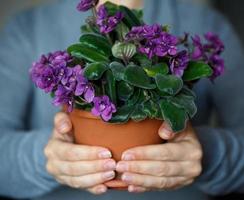
[[[13,198],[36,197],[57,186],[45,171],[43,154],[51,128],[32,130],[26,122],[32,103],[32,17],[19,16],[0,37],[0,196]]]

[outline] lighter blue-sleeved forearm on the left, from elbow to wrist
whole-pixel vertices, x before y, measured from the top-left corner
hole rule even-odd
[[[1,130],[0,196],[31,198],[58,184],[45,170],[43,154],[51,130],[29,132]]]

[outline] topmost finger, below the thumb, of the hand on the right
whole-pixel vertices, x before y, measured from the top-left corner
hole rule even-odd
[[[122,154],[122,160],[158,160],[158,161],[184,161],[189,160],[193,154],[199,156],[201,152],[196,149],[194,152],[191,143],[166,143],[160,145],[149,145],[135,147]],[[195,149],[195,147],[194,147]],[[196,158],[197,159],[197,158]]]

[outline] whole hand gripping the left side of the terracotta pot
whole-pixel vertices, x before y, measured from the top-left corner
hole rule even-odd
[[[70,133],[72,124],[67,114],[54,119],[53,135],[45,147],[46,169],[64,185],[86,189],[93,194],[107,191],[103,184],[115,177],[116,162],[103,147],[76,145]]]

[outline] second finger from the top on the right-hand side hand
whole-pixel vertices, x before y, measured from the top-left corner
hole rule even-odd
[[[120,161],[116,171],[158,177],[195,177],[201,173],[201,164],[194,161]]]

